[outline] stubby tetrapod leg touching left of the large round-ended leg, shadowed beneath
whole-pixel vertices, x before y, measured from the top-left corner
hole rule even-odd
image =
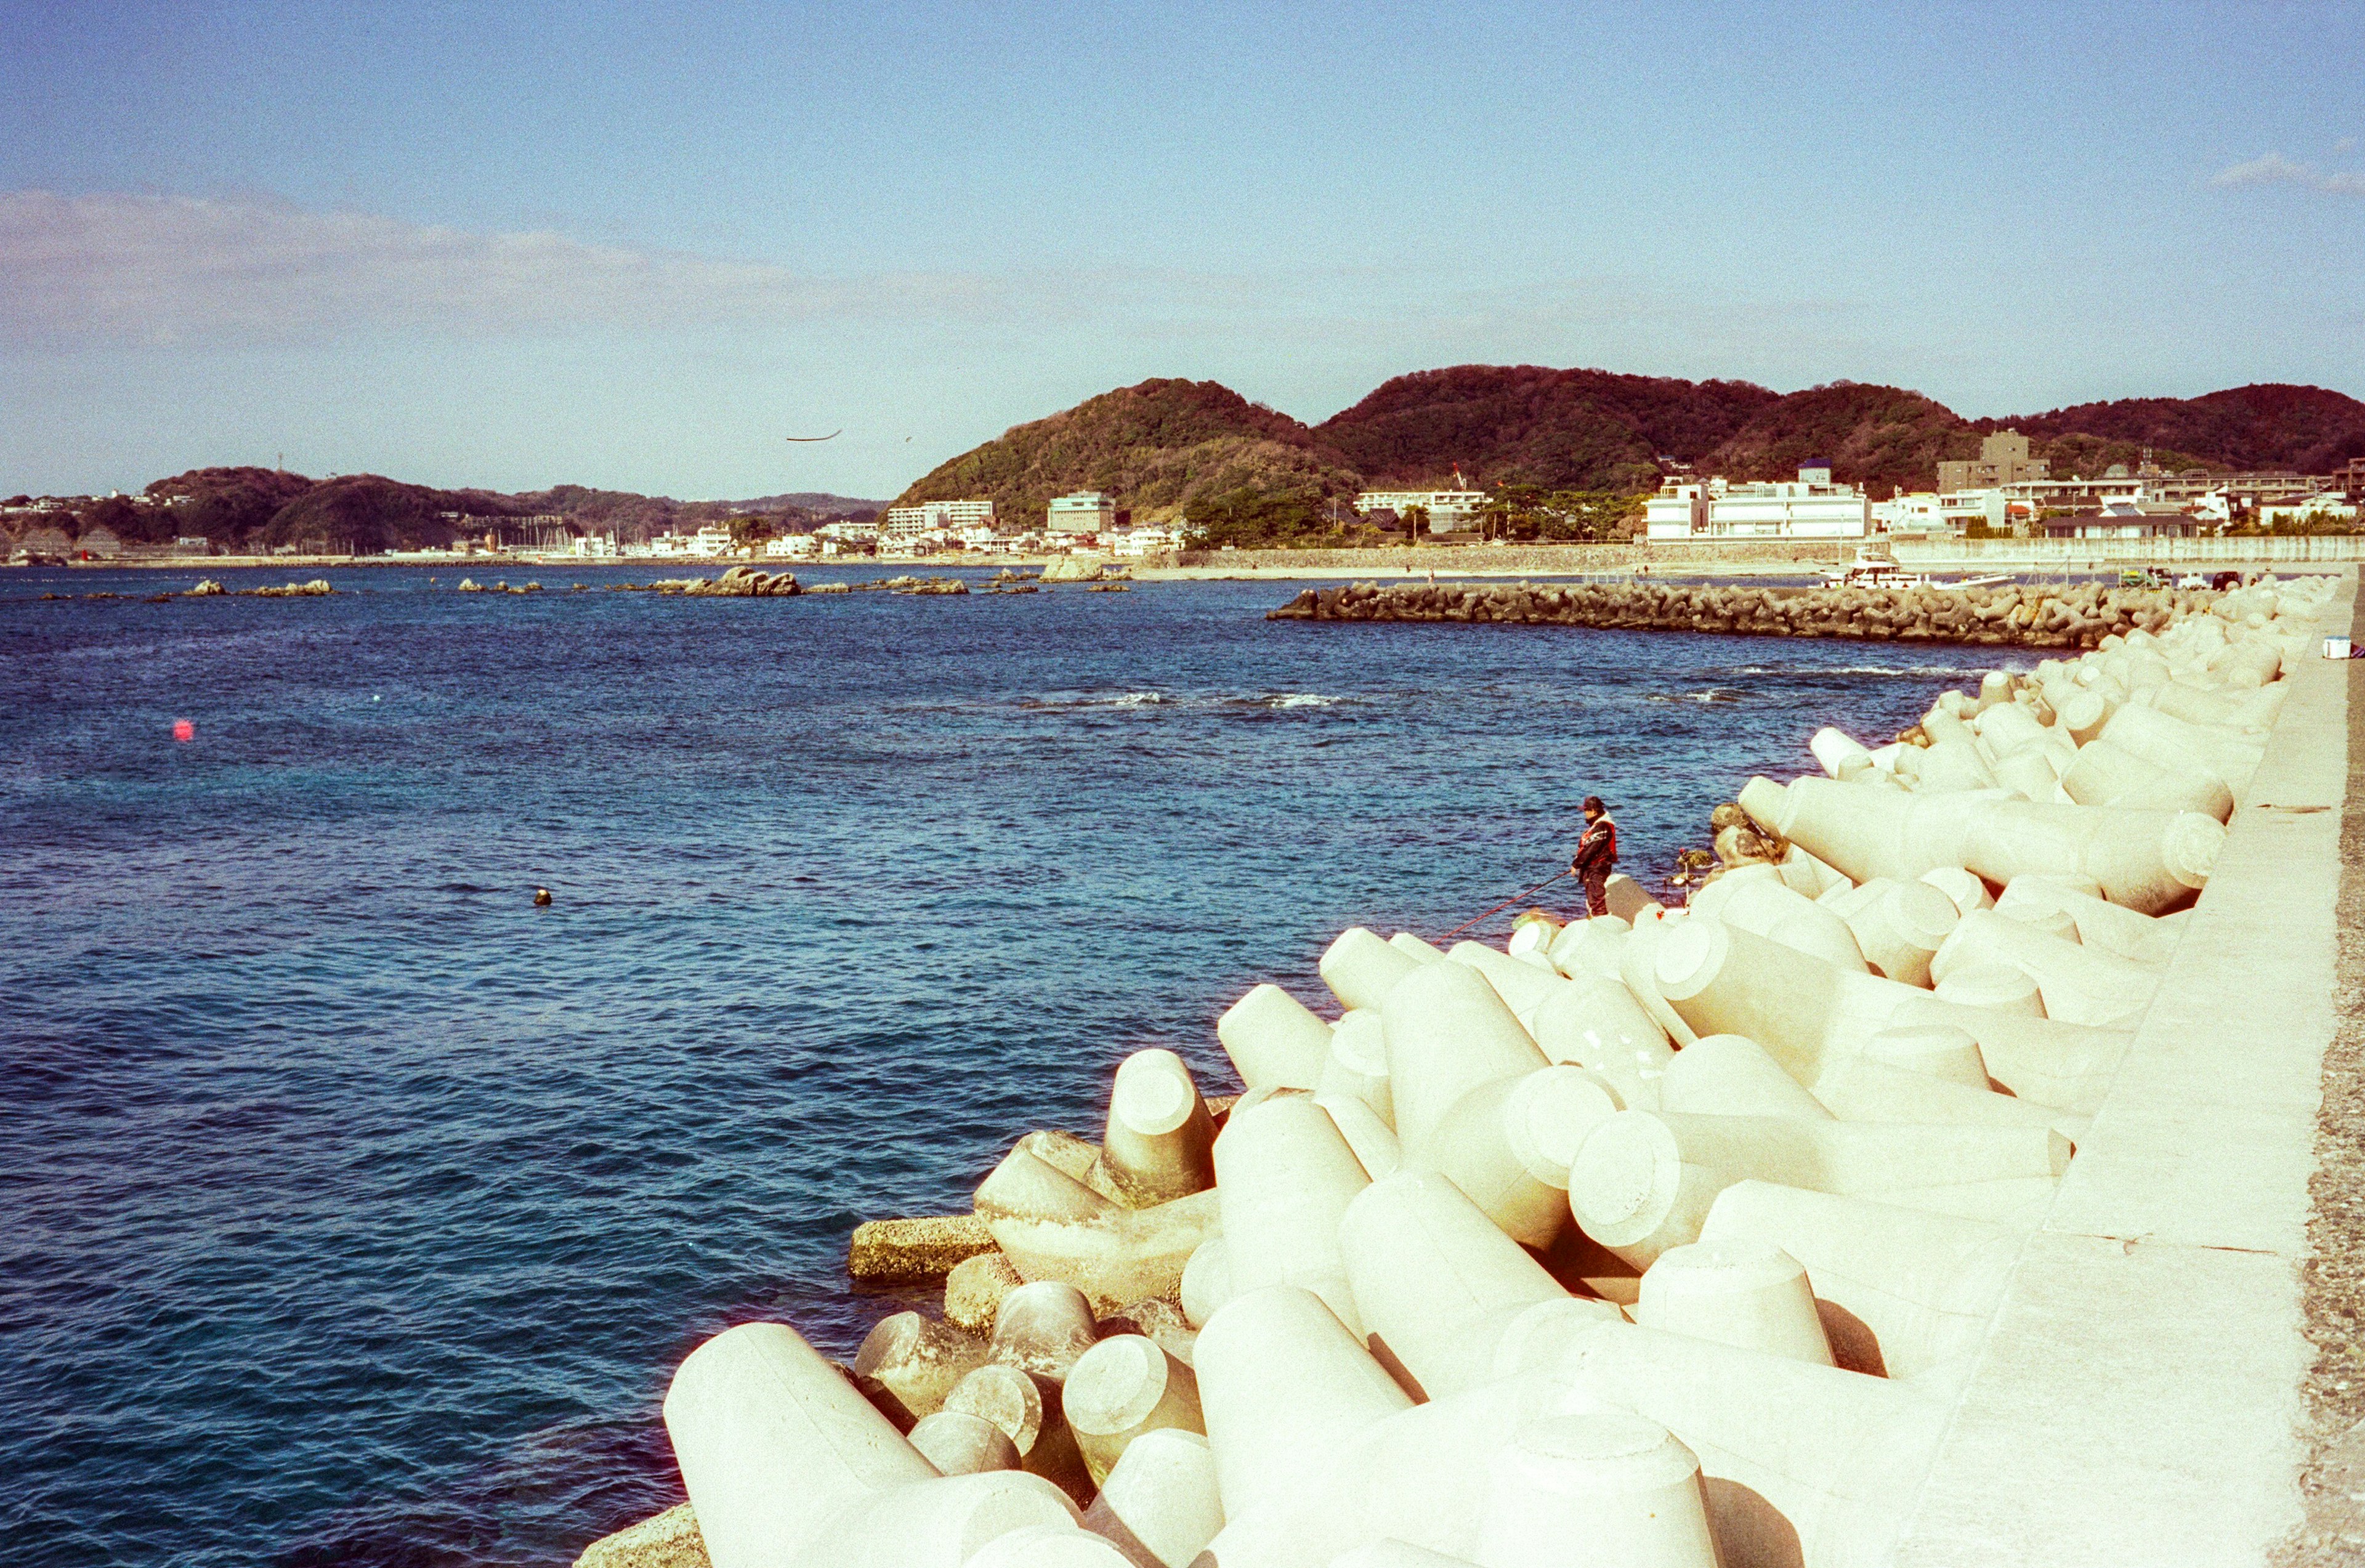
[[[1436,1171],[1514,1242],[1549,1249],[1568,1227],[1568,1161],[1618,1093],[1582,1067],[1542,1067],[1462,1095],[1405,1171]]]

